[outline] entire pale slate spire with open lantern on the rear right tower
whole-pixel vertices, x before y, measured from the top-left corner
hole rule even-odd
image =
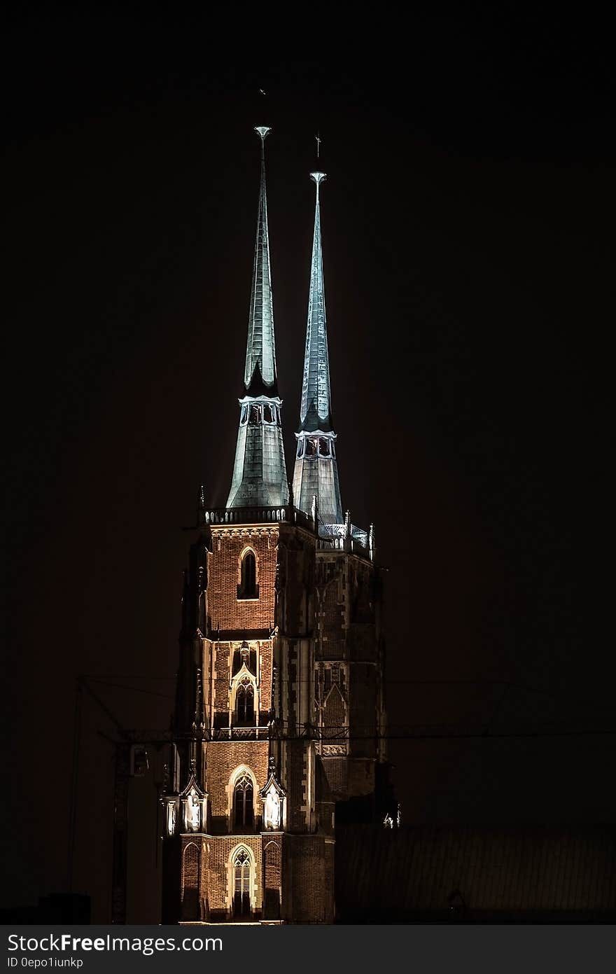
[[[310,172],[316,184],[314,236],[308,295],[306,356],[300,404],[300,431],[293,477],[296,505],[308,513],[316,496],[317,516],[321,524],[342,524],[343,503],[336,462],[336,433],[332,427],[332,407],[327,350],[327,320],[323,285],[323,252],[321,246],[320,185],[324,172]]]

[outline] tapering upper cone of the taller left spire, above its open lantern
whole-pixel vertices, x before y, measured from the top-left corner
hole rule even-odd
[[[250,291],[244,387],[248,394],[275,395],[276,356],[273,338],[272,274],[270,270],[265,150],[266,138],[271,129],[268,126],[256,126],[255,131],[261,139],[261,185],[252,288]]]

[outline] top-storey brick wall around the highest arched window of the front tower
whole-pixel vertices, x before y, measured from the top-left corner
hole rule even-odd
[[[277,527],[212,529],[208,562],[207,614],[212,632],[268,629],[274,618]],[[256,555],[259,598],[237,598],[240,556],[251,547]]]

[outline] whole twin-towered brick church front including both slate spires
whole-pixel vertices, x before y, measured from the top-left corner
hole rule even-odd
[[[372,529],[342,516],[318,199],[324,176],[312,173],[296,507],[276,384],[269,129],[255,131],[261,184],[236,461],[226,507],[208,507],[201,491],[185,574],[162,799],[163,922],[333,922],[336,808],[346,807],[348,819],[359,800],[362,814],[379,812],[380,580]]]

